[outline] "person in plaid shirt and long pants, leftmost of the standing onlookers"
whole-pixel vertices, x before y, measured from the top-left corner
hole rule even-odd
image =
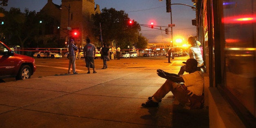
[[[75,51],[77,51],[77,46],[75,46],[74,43],[75,43],[74,40],[71,39],[68,44],[68,52],[69,52],[68,73],[70,73],[70,67],[72,64],[73,74],[77,74],[77,72],[75,71]]]

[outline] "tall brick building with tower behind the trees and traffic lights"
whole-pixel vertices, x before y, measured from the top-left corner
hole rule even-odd
[[[46,24],[42,29],[42,36],[39,38],[43,43],[56,37],[62,39],[60,41],[64,43],[68,41],[68,37],[72,36],[78,46],[84,46],[87,37],[97,46],[98,40],[91,31],[93,26],[91,15],[101,12],[99,5],[95,8],[94,0],[62,0],[61,5],[48,0],[39,13],[48,15],[52,19],[51,25]],[[60,28],[57,29],[57,26]],[[74,32],[77,32],[77,35],[74,35]]]

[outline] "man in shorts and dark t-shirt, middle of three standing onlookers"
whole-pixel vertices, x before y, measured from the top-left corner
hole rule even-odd
[[[97,73],[95,71],[95,65],[94,65],[94,57],[96,54],[96,48],[93,44],[90,43],[90,39],[86,39],[86,45],[84,46],[84,59],[86,63],[86,67],[88,68],[87,74],[90,74],[90,68],[93,68],[93,73]]]

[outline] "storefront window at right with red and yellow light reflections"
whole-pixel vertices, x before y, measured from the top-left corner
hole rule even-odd
[[[224,86],[256,116],[256,14],[254,0],[223,0]]]

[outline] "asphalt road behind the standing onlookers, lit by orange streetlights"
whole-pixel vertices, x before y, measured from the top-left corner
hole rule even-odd
[[[189,57],[175,57],[171,60],[172,63],[168,63],[168,58],[165,56],[158,57],[135,57],[135,58],[121,58],[120,60],[110,60],[107,62],[108,69],[101,69],[103,67],[103,61],[101,59],[95,59],[95,68],[97,70],[110,70],[111,68],[150,68],[150,69],[179,69],[182,66],[182,62],[186,61]],[[31,78],[46,77],[51,75],[61,75],[68,73],[68,59],[50,59],[50,58],[36,58],[36,72]],[[84,59],[76,60],[76,71],[87,71],[85,67]],[[0,82],[16,81],[14,78],[0,79]]]

